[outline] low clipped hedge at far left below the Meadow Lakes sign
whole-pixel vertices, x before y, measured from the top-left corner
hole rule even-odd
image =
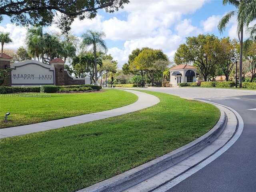
[[[40,87],[7,87],[0,86],[0,94],[40,92]]]

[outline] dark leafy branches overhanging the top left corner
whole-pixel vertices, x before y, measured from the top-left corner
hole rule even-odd
[[[15,24],[49,26],[59,12],[58,26],[66,32],[75,18],[92,19],[96,17],[97,10],[105,9],[112,13],[128,3],[129,0],[4,0],[0,3],[0,22],[3,15],[7,15]]]

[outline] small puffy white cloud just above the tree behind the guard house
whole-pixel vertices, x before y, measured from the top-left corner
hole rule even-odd
[[[186,36],[192,36],[192,35],[198,35],[202,31],[198,29],[195,26],[191,25],[191,19],[184,19],[182,22],[180,22],[175,30],[178,32],[180,36],[186,37]]]

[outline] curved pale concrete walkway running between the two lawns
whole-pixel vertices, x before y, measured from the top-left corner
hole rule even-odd
[[[24,126],[3,128],[3,129],[0,129],[0,138],[24,135],[24,134],[34,133],[34,132],[40,132],[40,131],[45,131],[50,129],[61,128],[65,126],[91,122],[91,121],[105,119],[109,117],[114,117],[114,116],[130,113],[130,112],[134,112],[137,110],[141,110],[144,108],[148,108],[160,102],[158,97],[153,96],[151,94],[138,92],[134,90],[124,90],[124,91],[136,94],[138,96],[138,100],[133,104],[112,109],[112,110],[80,115],[75,117],[69,117],[64,119],[58,119],[53,121],[47,121],[42,123],[24,125]]]

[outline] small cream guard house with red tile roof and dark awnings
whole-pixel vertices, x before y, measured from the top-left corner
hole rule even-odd
[[[196,82],[196,70],[196,67],[189,64],[181,64],[170,68],[170,84],[177,87],[178,83]]]

